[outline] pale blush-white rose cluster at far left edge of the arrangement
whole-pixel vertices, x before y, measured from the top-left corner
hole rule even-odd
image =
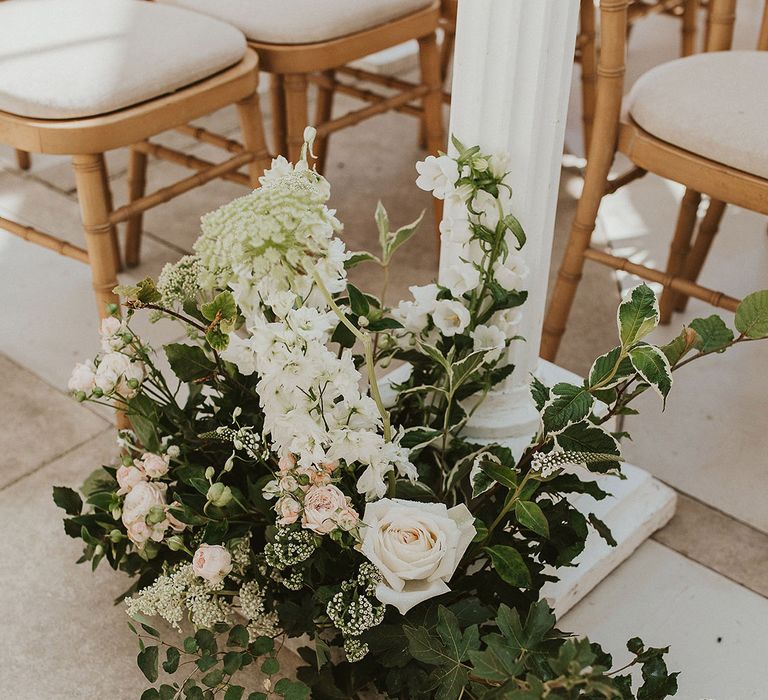
[[[81,401],[113,395],[131,399],[146,377],[144,363],[132,356],[132,335],[114,317],[101,322],[100,334],[103,352],[94,360],[76,364],[67,387]]]

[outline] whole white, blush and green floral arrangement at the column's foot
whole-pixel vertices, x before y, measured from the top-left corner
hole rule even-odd
[[[347,271],[386,280],[419,222],[393,230],[379,205],[381,251],[347,252],[311,137],[300,162],[277,158],[259,189],[203,217],[194,255],[118,290],[125,319],[113,309],[70,381],[132,426],[118,464],[54,499],[81,561],[132,579],[142,700],[674,695],[666,649],[634,638],[614,663],[559,631],[539,592],[590,529],[612,542],[568,499],[607,495],[591,472],[620,475],[610,419],[648,389],[666,398],[693,360],[768,336],[768,292],[744,300],[738,335],[710,316],[657,347],[655,296],[636,287],[583,384],[531,379],[541,422],[516,459],[463,433],[522,342],[506,158],[454,140],[455,157],[417,165],[420,187],[460,203],[441,231],[462,255],[390,308],[386,282],[376,297]],[[173,381],[130,329],[138,310],[188,333],[163,348]],[[286,643],[296,673],[281,670]]]

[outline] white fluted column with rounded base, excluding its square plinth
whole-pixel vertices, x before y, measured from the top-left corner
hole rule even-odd
[[[512,213],[530,268],[512,376],[472,416],[472,437],[525,445],[538,415],[528,391],[539,361],[579,0],[460,0],[450,133],[511,155]],[[451,212],[446,207],[446,216]],[[440,267],[456,260],[443,245]]]

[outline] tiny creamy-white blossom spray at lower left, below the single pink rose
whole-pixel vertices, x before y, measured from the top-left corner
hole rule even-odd
[[[179,623],[189,613],[198,627],[213,627],[217,622],[226,622],[231,606],[216,595],[223,588],[223,582],[211,583],[197,576],[192,564],[184,564],[167,574],[158,576],[155,582],[126,600],[128,615],[159,615],[174,628],[181,631]]]

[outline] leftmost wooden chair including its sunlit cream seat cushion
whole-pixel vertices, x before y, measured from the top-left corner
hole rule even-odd
[[[117,301],[117,224],[134,224],[135,264],[141,212],[218,177],[256,186],[269,157],[257,80],[258,58],[242,33],[193,12],[140,0],[0,3],[0,143],[72,157],[86,247],[2,217],[0,228],[89,264],[103,316]],[[245,146],[220,164],[147,141],[231,104]],[[103,154],[134,144],[134,175],[143,177],[147,153],[196,172],[115,209]],[[237,172],[243,166],[247,176]],[[132,195],[138,184],[133,178]]]

